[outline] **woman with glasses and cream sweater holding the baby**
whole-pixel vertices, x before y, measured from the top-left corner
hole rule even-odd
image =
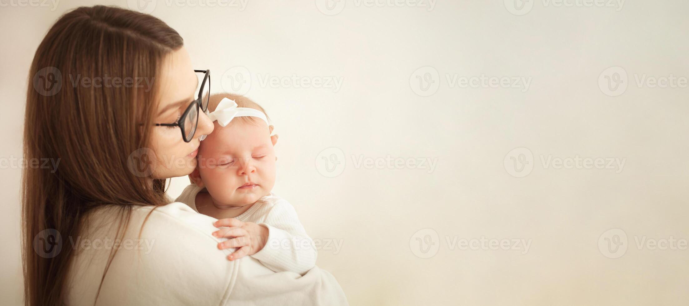
[[[196,167],[209,70],[180,35],[121,8],[64,14],[37,48],[25,112],[26,305],[342,305],[325,271],[228,261],[213,218],[169,203],[166,179]],[[169,204],[168,204],[169,203]]]

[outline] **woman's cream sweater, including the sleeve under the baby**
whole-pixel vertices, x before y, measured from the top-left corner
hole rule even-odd
[[[183,203],[135,206],[107,274],[118,210],[94,210],[78,237],[65,284],[67,305],[347,305],[336,279],[313,267],[303,276],[274,272],[256,258],[228,261],[212,232],[215,218]],[[142,225],[145,225],[142,227]],[[108,242],[110,241],[110,243]]]

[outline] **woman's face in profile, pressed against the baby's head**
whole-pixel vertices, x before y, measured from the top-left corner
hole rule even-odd
[[[155,80],[161,86],[161,103],[158,105],[155,123],[175,123],[179,116],[198,96],[197,83],[201,81],[192,68],[187,49],[182,47],[165,57],[160,76]],[[198,84],[200,85],[200,84]],[[194,139],[188,143],[182,139],[179,127],[154,126],[152,150],[156,154],[154,179],[168,179],[192,173],[196,167],[199,137],[213,132],[213,123],[203,112],[198,114],[198,128]]]

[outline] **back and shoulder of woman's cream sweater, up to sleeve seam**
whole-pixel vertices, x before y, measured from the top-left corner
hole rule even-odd
[[[227,260],[234,249],[218,249],[221,240],[212,236],[217,230],[214,218],[179,202],[136,206],[119,247],[107,243],[119,237],[119,223],[112,222],[116,219],[116,210],[111,208],[88,216],[70,267],[70,305],[93,305],[101,279],[99,301],[121,305],[227,302],[240,261]],[[113,251],[116,256],[107,267]],[[205,302],[198,304],[198,296],[205,296]]]

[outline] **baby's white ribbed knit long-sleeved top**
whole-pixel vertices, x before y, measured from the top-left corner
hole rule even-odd
[[[175,200],[196,209],[196,194],[203,188],[191,184]],[[234,217],[268,227],[265,247],[253,254],[263,265],[275,272],[290,271],[304,275],[316,265],[317,251],[313,240],[299,222],[297,212],[289,202],[271,193],[258,199],[243,214]]]

